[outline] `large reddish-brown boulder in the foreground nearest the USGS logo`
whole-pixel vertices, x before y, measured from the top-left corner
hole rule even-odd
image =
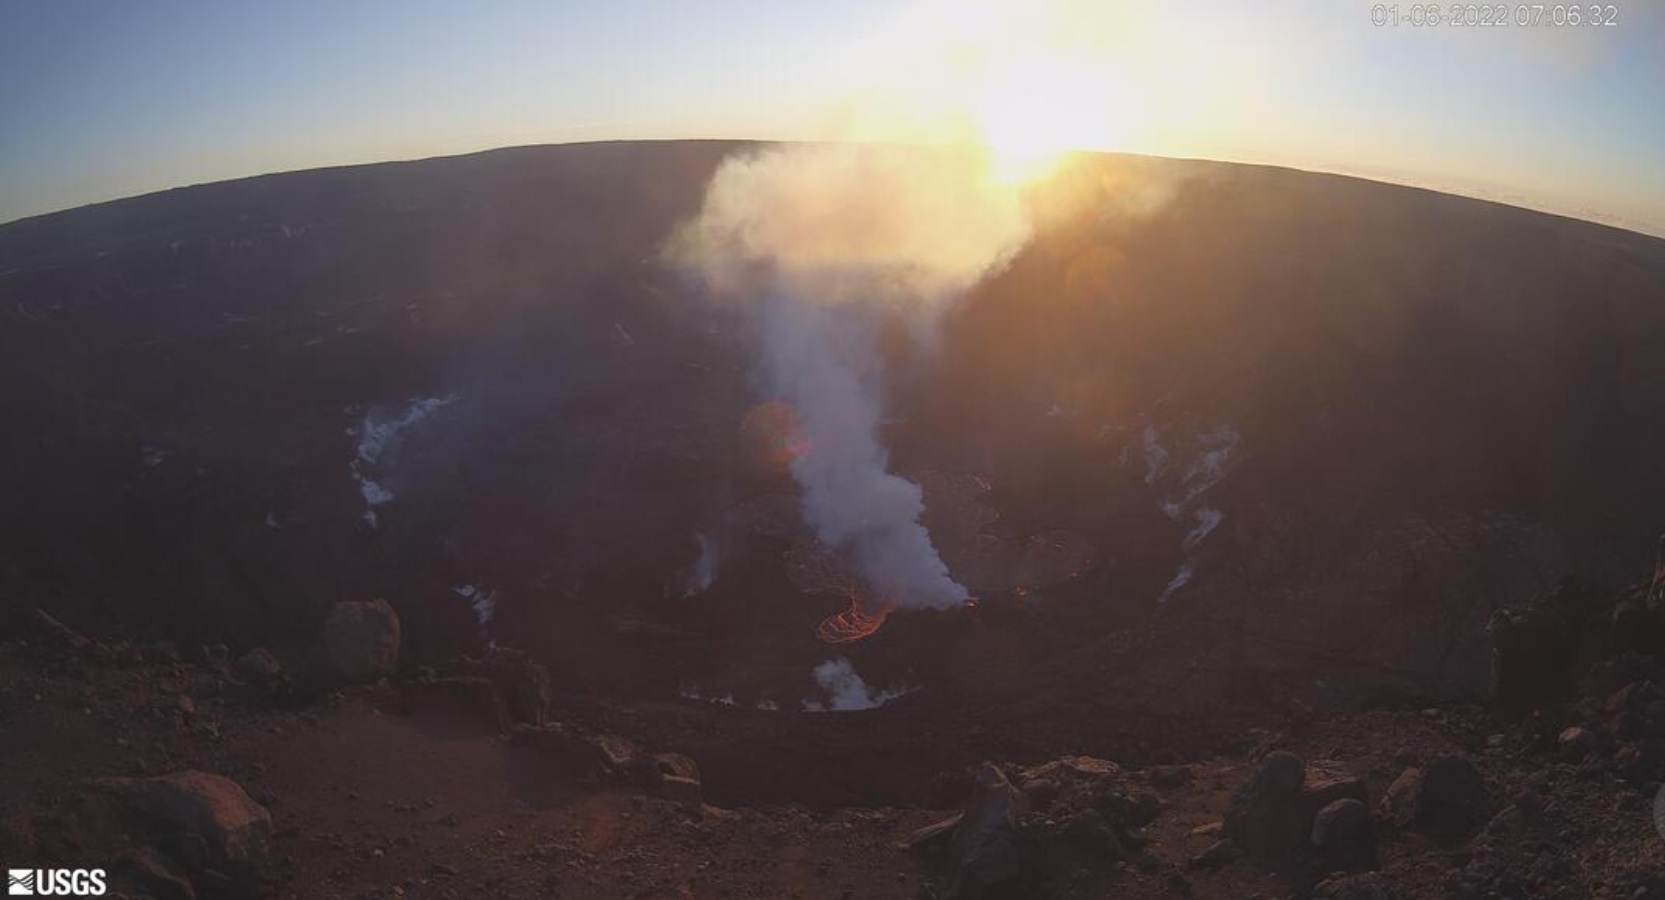
[[[95,784],[147,822],[155,843],[193,873],[211,870],[248,883],[266,862],[271,813],[231,779],[186,770]]]

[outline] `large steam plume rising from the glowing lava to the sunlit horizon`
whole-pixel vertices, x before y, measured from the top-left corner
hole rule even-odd
[[[758,316],[759,369],[798,413],[804,521],[897,607],[966,601],[887,469],[876,333],[929,343],[942,311],[1029,240],[1014,185],[971,148],[803,145],[723,161],[669,256]]]

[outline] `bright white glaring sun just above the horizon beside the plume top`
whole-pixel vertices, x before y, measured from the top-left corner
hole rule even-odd
[[[1106,63],[1024,55],[991,63],[972,118],[1002,183],[1046,178],[1076,150],[1124,146],[1141,120],[1137,93]]]

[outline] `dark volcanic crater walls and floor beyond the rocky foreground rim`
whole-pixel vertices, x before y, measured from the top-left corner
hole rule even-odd
[[[842,601],[746,452],[753,334],[659,255],[748,150],[503,150],[0,228],[8,596],[246,647],[380,594],[418,655],[514,635],[599,694],[818,700]],[[1149,158],[1031,201],[937,353],[889,354],[882,438],[994,624],[891,622],[849,652],[876,684],[1021,690],[1161,612],[1169,690],[1472,695],[1494,609],[1652,559],[1665,243]]]

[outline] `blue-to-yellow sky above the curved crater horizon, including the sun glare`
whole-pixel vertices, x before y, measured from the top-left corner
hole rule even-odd
[[[0,221],[529,143],[986,140],[1342,171],[1665,235],[1665,3],[1490,28],[1374,7],[0,0]]]

